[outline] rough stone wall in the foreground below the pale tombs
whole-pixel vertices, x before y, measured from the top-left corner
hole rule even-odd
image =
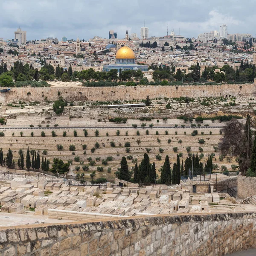
[[[0,230],[0,255],[222,256],[256,246],[255,213],[176,215]]]

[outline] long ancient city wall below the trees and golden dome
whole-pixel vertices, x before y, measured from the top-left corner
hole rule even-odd
[[[12,88],[0,93],[0,103],[21,101],[54,101],[60,96],[67,101],[108,101],[155,98],[251,96],[256,93],[255,84],[219,84],[187,86],[137,86],[137,87],[42,87]],[[28,93],[30,93],[28,95]]]

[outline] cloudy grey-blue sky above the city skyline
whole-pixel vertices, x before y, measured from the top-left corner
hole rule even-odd
[[[247,0],[0,0],[0,38],[14,38],[20,26],[27,40],[62,36],[87,40],[108,37],[110,29],[118,38],[149,28],[149,36],[176,34],[197,37],[219,30],[250,33],[256,37],[256,1]]]

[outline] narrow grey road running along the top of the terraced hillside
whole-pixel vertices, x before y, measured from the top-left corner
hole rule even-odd
[[[134,129],[131,126],[99,126],[99,127],[61,127],[61,126],[57,126],[57,127],[0,127],[0,130],[13,130],[13,129]],[[169,129],[169,128],[183,128],[181,126],[175,127],[175,126],[154,126],[152,129]],[[223,126],[201,126],[201,127],[184,127],[184,129],[186,128],[194,128],[194,129],[200,129],[200,128],[223,128]],[[151,129],[149,126],[145,126],[145,127],[137,127],[137,129]]]

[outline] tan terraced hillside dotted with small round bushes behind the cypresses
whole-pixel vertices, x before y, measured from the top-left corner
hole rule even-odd
[[[99,131],[99,135],[96,130]],[[198,135],[192,136],[194,130],[198,131]],[[131,126],[127,128],[87,128],[87,137],[84,135],[83,128],[21,128],[1,131],[5,134],[4,137],[0,137],[4,156],[11,148],[16,169],[18,169],[18,151],[23,150],[26,160],[28,146],[29,150],[39,150],[40,157],[43,156],[43,151],[47,150],[46,158],[49,159],[50,164],[55,157],[64,160],[65,163],[72,160],[74,169],[75,166],[80,166],[80,170],[76,173],[84,173],[85,177],[90,177],[90,174],[96,171],[96,177],[106,177],[108,180],[115,178],[114,172],[120,167],[120,160],[123,156],[128,157],[128,165],[131,168],[136,160],[138,163],[142,160],[143,154],[146,152],[148,152],[150,161],[155,162],[157,171],[163,165],[166,154],[169,155],[171,163],[174,163],[177,154],[180,154],[181,160],[185,160],[188,151],[201,154],[203,157],[201,161],[206,161],[209,155],[214,153],[213,163],[218,163],[220,169],[222,165],[226,165],[231,170],[231,164],[235,164],[234,159],[230,163],[226,159],[219,160],[219,153],[216,148],[214,150],[214,146],[218,145],[221,134],[220,128],[216,127],[191,128],[187,125],[186,128],[140,127],[135,129]],[[55,137],[52,137],[52,131],[55,132]],[[66,132],[66,137],[63,137],[64,132]],[[75,135],[77,133],[76,137],[74,132]],[[45,137],[42,137],[42,133],[45,133]],[[201,139],[203,140],[200,144],[199,140]],[[58,150],[57,145],[62,145],[63,149]],[[70,150],[70,145],[74,145],[75,149]],[[61,149],[60,146],[58,147]],[[191,147],[190,150],[188,147]],[[93,148],[95,151],[92,150]],[[156,159],[157,155],[158,160]],[[159,156],[162,160],[159,160]],[[113,160],[102,163],[102,160],[106,160],[107,157],[113,157]],[[95,165],[90,166],[93,165],[93,161],[95,161]],[[82,166],[85,165],[89,167],[89,170],[83,171]],[[103,172],[99,172],[99,169],[97,171],[97,167],[103,167]]]

